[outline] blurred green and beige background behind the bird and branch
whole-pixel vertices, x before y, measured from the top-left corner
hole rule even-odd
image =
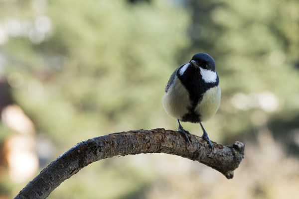
[[[298,10],[298,0],[0,0],[0,199],[80,141],[176,130],[164,86],[198,52],[215,59],[222,90],[209,137],[246,145],[233,180],[142,154],[93,163],[48,198],[298,199]]]

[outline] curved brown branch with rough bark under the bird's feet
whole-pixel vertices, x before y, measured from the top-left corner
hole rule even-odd
[[[211,152],[206,141],[192,135],[188,145],[177,131],[163,128],[112,133],[78,143],[59,156],[30,181],[14,199],[45,199],[63,181],[83,167],[98,160],[121,155],[167,153],[203,163],[221,172],[227,179],[244,158],[244,144],[223,146],[212,142]]]

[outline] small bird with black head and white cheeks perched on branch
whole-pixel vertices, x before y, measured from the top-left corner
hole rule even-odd
[[[214,59],[206,53],[196,53],[189,62],[180,65],[170,76],[162,98],[165,112],[178,122],[178,132],[188,144],[192,138],[180,124],[199,123],[202,138],[213,151],[214,146],[201,122],[214,116],[220,106],[221,89]],[[192,141],[192,139],[191,139]]]

